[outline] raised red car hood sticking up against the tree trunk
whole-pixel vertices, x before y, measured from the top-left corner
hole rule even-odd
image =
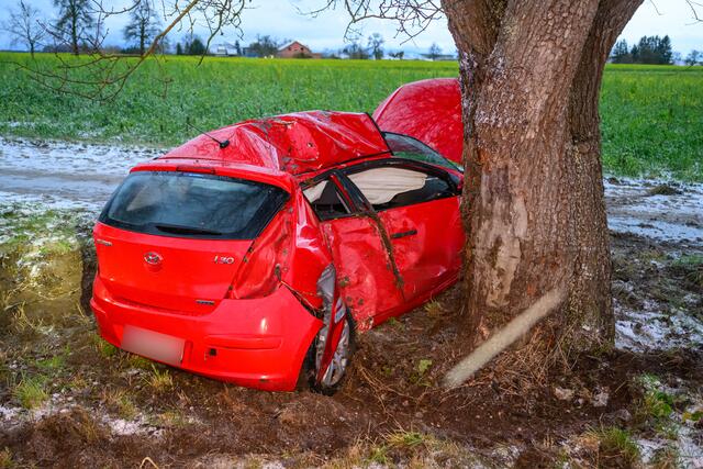
[[[461,164],[464,124],[456,78],[431,78],[398,88],[373,112],[386,132],[410,135]]]

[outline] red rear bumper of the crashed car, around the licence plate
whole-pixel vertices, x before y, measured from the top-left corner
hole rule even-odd
[[[212,313],[193,316],[121,302],[96,278],[90,305],[100,335],[116,347],[125,326],[178,337],[185,340],[179,368],[270,391],[295,388],[322,326],[287,288],[259,299],[223,300]]]

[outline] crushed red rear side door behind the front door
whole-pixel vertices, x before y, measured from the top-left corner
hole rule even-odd
[[[357,327],[367,330],[377,314],[399,308],[403,298],[382,225],[353,201],[339,176],[316,177],[303,192],[321,221],[342,298]]]

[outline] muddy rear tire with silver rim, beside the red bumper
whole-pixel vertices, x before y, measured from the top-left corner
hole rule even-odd
[[[308,389],[321,394],[332,395],[344,384],[356,345],[356,325],[354,324],[354,320],[350,314],[347,313],[344,321],[345,331],[343,332],[343,337],[339,339],[339,345],[337,345],[337,350],[335,350],[335,357],[330,365],[332,368],[336,364],[336,373],[333,371],[335,376],[327,377],[327,373],[325,373],[325,377],[331,379],[323,379],[320,382],[315,379],[317,376],[317,344],[320,340],[320,334],[323,333],[321,330],[310,344],[305,358],[303,359],[303,366],[301,367],[300,376],[298,378],[299,390]],[[343,347],[342,349],[339,348],[341,346]]]

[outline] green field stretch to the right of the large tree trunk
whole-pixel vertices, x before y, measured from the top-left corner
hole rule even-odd
[[[611,65],[601,115],[607,170],[703,180],[703,67]]]

